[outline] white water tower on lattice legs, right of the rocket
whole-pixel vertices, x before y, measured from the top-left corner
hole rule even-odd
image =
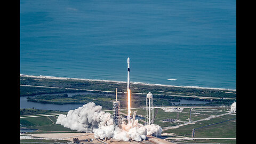
[[[145,125],[154,124],[154,105],[153,105],[153,94],[148,93],[146,98],[146,123]]]

